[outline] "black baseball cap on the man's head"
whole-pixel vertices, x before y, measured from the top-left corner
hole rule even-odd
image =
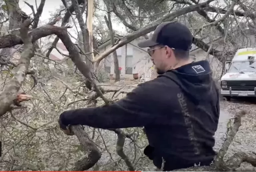
[[[175,21],[163,22],[157,26],[152,38],[139,42],[141,48],[167,45],[173,49],[190,50],[194,37],[188,27]]]

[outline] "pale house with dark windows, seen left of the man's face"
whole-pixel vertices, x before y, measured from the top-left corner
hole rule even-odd
[[[121,38],[122,36],[115,35],[114,40],[117,41]],[[135,39],[116,50],[120,77],[132,78],[133,74],[136,73],[138,73],[139,76],[142,76],[145,73],[146,75],[148,74],[150,76],[153,63],[150,60],[147,48],[140,48],[137,46],[138,42],[141,40],[143,39]],[[110,39],[98,46],[98,50],[101,53],[107,50],[109,47],[111,47]],[[99,64],[99,67],[104,69],[105,72],[115,76],[113,53],[103,59]]]

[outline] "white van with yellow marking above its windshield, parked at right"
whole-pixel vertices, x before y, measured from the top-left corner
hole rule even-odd
[[[226,61],[221,77],[221,95],[256,97],[256,48],[239,49],[232,61]]]

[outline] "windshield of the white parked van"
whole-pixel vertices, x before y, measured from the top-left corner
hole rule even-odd
[[[256,61],[232,62],[227,72],[256,72]]]

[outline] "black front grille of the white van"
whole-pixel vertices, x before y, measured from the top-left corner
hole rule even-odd
[[[256,81],[227,81],[227,90],[231,87],[233,91],[254,91]]]

